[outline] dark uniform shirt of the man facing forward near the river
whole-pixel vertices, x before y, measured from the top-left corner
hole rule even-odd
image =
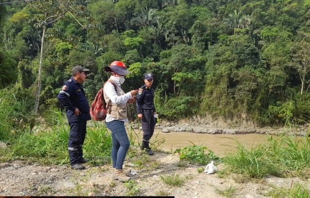
[[[137,114],[141,114],[142,109],[153,109],[154,112],[156,112],[154,105],[154,89],[152,87],[149,89],[146,84],[141,86],[136,94],[136,99]]]

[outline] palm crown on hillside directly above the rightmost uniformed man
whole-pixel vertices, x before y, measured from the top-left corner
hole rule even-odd
[[[159,19],[158,16],[155,16],[156,9],[142,8],[141,13],[136,13],[135,17],[130,20],[131,25],[136,26],[150,26],[154,28],[154,25]]]

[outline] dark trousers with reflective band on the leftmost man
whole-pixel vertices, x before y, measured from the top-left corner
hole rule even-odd
[[[78,164],[83,156],[82,146],[86,136],[87,121],[69,122],[69,157],[70,165]]]

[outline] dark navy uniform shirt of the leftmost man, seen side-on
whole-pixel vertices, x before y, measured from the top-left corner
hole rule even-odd
[[[58,100],[66,108],[68,122],[87,121],[91,119],[89,104],[83,86],[73,77],[66,81],[58,94]],[[76,107],[81,112],[75,115]]]

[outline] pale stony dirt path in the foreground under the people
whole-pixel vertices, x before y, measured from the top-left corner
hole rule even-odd
[[[198,173],[201,166],[188,165],[178,167],[176,155],[155,152],[151,156],[155,166],[146,166],[134,177],[136,184],[131,191],[123,182],[111,179],[112,168],[109,165],[87,165],[86,170],[71,170],[68,166],[48,166],[26,164],[23,161],[0,164],[0,196],[174,196],[175,198],[222,198],[219,190],[232,186],[234,198],[265,198],[269,184],[289,188],[292,181],[310,187],[309,181],[298,178],[268,177],[257,183],[236,183],[230,175],[220,178],[217,174]],[[127,163],[128,164],[128,163]],[[222,169],[221,165],[217,165]],[[128,168],[128,167],[126,167]],[[130,168],[130,167],[129,167]],[[179,174],[186,182],[180,186],[171,186],[160,176]],[[136,192],[136,193],[135,193]],[[131,193],[131,194],[130,194]]]

